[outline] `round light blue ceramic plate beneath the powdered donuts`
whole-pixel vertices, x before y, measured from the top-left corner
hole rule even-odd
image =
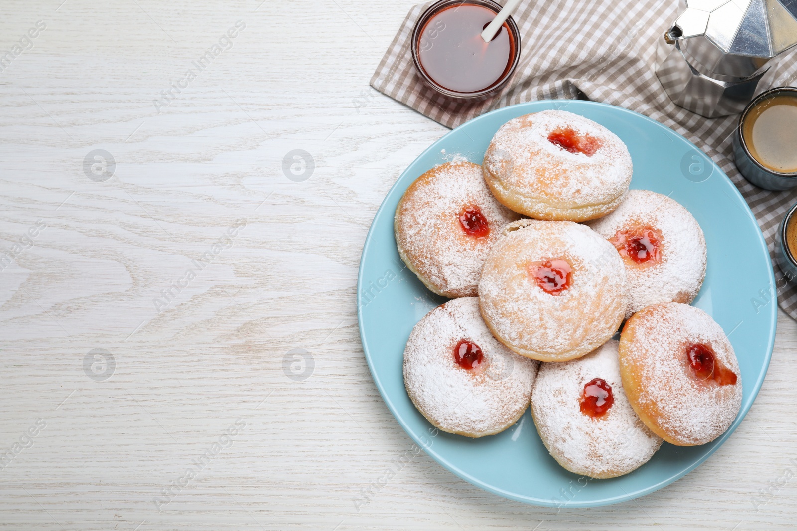
[[[739,416],[713,443],[662,449],[631,474],[588,479],[571,474],[548,455],[530,412],[512,428],[482,439],[435,431],[404,389],[402,355],[415,323],[444,299],[433,298],[404,267],[393,237],[393,215],[402,193],[431,167],[464,155],[481,163],[509,119],[559,108],[603,124],[628,146],[634,160],[631,188],[673,197],[700,223],[709,267],[695,306],[709,312],[728,334],[744,382]],[[445,154],[442,152],[445,150]],[[748,412],[764,381],[775,341],[775,279],[755,219],[728,177],[692,143],[662,124],[605,103],[547,100],[520,103],[482,115],[434,143],[404,171],[376,213],[359,265],[360,336],[379,392],[418,446],[459,477],[495,494],[540,506],[590,507],[637,498],[681,478],[724,443]]]

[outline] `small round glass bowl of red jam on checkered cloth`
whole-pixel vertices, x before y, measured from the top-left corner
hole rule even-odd
[[[441,0],[427,9],[412,33],[412,61],[435,91],[459,100],[492,96],[508,82],[520,59],[520,33],[512,17],[485,42],[481,32],[501,6],[493,0]]]

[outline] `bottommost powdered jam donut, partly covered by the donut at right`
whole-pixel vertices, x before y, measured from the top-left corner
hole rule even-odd
[[[532,416],[540,439],[575,474],[628,474],[662,445],[622,390],[617,347],[609,341],[577,360],[544,363],[534,382]]]

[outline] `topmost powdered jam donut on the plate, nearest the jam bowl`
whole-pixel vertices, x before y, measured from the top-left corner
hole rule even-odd
[[[482,169],[498,201],[545,221],[606,216],[625,197],[632,173],[617,135],[566,111],[509,120],[493,137]]]

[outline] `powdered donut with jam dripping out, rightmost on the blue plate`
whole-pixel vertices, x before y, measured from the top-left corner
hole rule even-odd
[[[626,322],[620,373],[634,411],[668,443],[709,443],[739,412],[736,354],[711,316],[688,304],[647,306]]]

